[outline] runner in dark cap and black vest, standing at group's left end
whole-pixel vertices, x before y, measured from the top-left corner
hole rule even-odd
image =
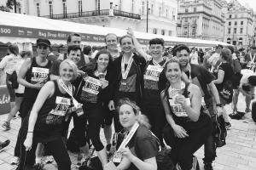
[[[38,56],[26,59],[20,67],[18,82],[25,86],[24,98],[20,104],[21,126],[15,145],[15,156],[20,156],[20,139],[25,131],[23,124],[26,116],[32,109],[32,105],[37,99],[40,88],[49,81],[49,68],[51,62],[47,59],[50,42],[47,39],[37,40]]]

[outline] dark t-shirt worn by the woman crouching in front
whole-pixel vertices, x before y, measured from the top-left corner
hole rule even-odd
[[[137,128],[136,133],[128,143],[128,147],[131,153],[142,161],[157,156],[160,150],[156,137],[143,125]],[[131,164],[128,170],[138,170],[138,168]]]

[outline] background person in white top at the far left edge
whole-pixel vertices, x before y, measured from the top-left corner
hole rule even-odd
[[[6,86],[8,88],[9,96],[10,96],[10,102],[13,105],[15,102],[15,88],[12,86],[11,78],[13,77],[13,74],[17,75],[17,72],[15,72],[15,68],[17,67],[17,63],[20,62],[21,57],[19,54],[19,48],[15,44],[11,44],[8,47],[9,55],[6,55],[3,57],[3,59],[0,62],[0,70],[4,70],[6,73]],[[14,85],[14,84],[13,84]],[[13,107],[12,107],[13,108]],[[15,108],[15,113],[18,110]]]

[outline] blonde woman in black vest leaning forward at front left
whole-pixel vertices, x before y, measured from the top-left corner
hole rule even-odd
[[[70,170],[71,161],[67,148],[61,139],[67,112],[72,106],[73,85],[77,77],[77,66],[66,59],[60,65],[60,79],[47,82],[40,90],[32,107],[24,146],[21,147],[20,169],[32,166],[29,157],[36,150],[38,143],[44,144],[46,150],[54,156],[59,170]]]

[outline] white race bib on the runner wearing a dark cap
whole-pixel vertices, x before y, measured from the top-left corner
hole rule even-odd
[[[47,82],[49,77],[49,69],[40,68],[40,67],[32,67],[32,78],[31,82]]]

